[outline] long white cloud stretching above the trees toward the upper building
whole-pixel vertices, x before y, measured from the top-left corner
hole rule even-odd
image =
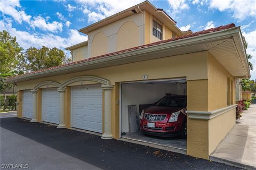
[[[7,30],[11,36],[17,37],[17,41],[21,47],[27,49],[30,46],[39,48],[42,46],[66,48],[68,46],[81,43],[87,40],[87,36],[80,35],[77,30],[70,29],[67,31],[67,38],[53,35],[52,33],[30,33],[27,31],[20,31],[12,27],[11,20],[3,19],[0,21],[0,30]]]

